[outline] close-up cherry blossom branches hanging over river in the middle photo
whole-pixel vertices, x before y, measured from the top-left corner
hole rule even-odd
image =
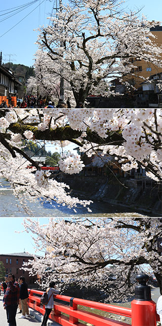
[[[129,171],[139,166],[157,183],[162,177],[161,109],[1,109],[1,176],[11,183],[25,204],[43,197],[74,208],[90,201],[72,198],[69,186],[50,179],[23,151],[22,139],[66,141],[77,144],[88,156],[101,160],[108,154]],[[29,164],[32,169],[27,168]],[[61,171],[79,173],[84,167],[80,155],[67,153],[59,161]],[[89,208],[88,208],[89,210]]]

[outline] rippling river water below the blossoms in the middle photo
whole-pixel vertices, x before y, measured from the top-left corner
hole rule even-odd
[[[25,212],[19,203],[19,200],[13,195],[10,184],[5,179],[0,180],[0,217],[143,217],[146,215],[132,212],[124,206],[112,205],[100,201],[94,201],[89,207],[92,213],[86,208],[78,207],[77,213],[67,206],[58,205],[53,202],[37,200],[37,202],[28,202],[29,212]]]

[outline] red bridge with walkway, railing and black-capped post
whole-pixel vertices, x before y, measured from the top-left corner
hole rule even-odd
[[[71,298],[67,295],[54,294],[54,308],[49,316],[48,326],[156,326],[159,315],[156,313],[156,304],[151,300],[150,286],[146,285],[148,278],[146,275],[138,275],[139,285],[135,287],[135,299],[131,303],[131,308],[109,305],[90,300]],[[40,325],[45,313],[45,306],[41,304],[43,291],[28,289],[29,313],[30,316],[19,319],[17,314],[17,326],[27,326],[32,324]],[[3,309],[3,296],[0,297],[1,324],[7,326],[6,312]],[[96,309],[97,313],[89,312],[85,308]],[[108,312],[132,319],[131,323],[115,320],[115,317],[101,316],[99,311]],[[96,312],[95,311],[95,312]],[[125,319],[125,318],[124,318]],[[30,324],[29,324],[30,322]]]

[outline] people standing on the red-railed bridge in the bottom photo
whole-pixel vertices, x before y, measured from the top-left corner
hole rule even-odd
[[[6,275],[5,282],[2,283],[4,290],[4,309],[7,313],[7,321],[9,326],[16,326],[16,313],[19,305],[19,309],[22,315],[19,318],[29,317],[28,310],[28,285],[25,282],[24,276],[20,276],[18,282],[13,274]],[[47,288],[48,303],[45,305],[45,315],[41,326],[47,326],[49,315],[54,306],[53,293],[59,294],[56,290],[55,282],[51,282]]]

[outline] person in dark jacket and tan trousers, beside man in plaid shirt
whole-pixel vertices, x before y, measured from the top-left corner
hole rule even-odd
[[[20,276],[20,300],[21,300],[21,309],[22,309],[22,315],[19,318],[25,318],[25,314],[27,317],[29,317],[29,309],[28,309],[28,290],[27,290],[27,283],[25,282],[25,277]]]

